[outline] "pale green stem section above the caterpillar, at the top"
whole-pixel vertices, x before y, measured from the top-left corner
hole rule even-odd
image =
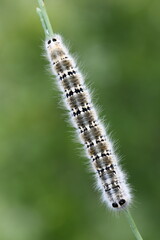
[[[38,0],[38,4],[39,4],[39,8],[37,8],[37,13],[40,17],[46,38],[51,38],[53,36],[53,30],[52,30],[51,23],[49,21],[49,17],[45,8],[44,1]]]

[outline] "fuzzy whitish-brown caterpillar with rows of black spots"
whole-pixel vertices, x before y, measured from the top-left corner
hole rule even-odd
[[[131,201],[126,176],[121,170],[112,143],[106,135],[83,75],[60,35],[54,34],[45,42],[48,60],[56,76],[71,121],[85,146],[103,200],[111,209],[124,209]]]

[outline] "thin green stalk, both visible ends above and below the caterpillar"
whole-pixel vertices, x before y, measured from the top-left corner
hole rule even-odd
[[[39,4],[39,8],[37,8],[37,13],[40,17],[41,23],[42,23],[42,27],[44,29],[44,33],[46,38],[50,38],[53,36],[53,30],[52,30],[52,26],[45,8],[45,4],[43,0],[38,0],[38,4]],[[124,210],[124,214],[127,218],[127,221],[130,225],[130,228],[135,236],[136,240],[143,240],[143,238],[141,237],[138,228],[132,218],[132,215],[130,213],[130,211],[128,209]]]

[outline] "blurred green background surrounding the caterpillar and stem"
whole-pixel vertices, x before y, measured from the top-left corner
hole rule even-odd
[[[46,0],[118,139],[134,219],[159,239],[160,2]],[[0,0],[0,239],[133,240],[94,190],[42,57],[36,1]]]

